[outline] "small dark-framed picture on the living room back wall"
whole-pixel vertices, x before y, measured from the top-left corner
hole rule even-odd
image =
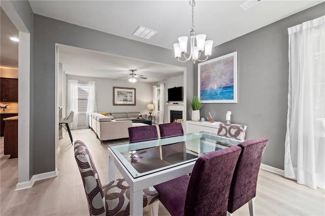
[[[113,105],[136,105],[136,88],[113,87]]]

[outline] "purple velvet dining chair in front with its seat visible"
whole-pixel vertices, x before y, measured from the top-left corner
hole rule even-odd
[[[174,215],[225,215],[233,172],[241,148],[205,154],[191,176],[183,175],[154,186],[160,202]]]

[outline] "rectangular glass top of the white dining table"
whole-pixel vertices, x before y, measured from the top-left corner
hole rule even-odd
[[[198,157],[238,145],[241,140],[213,133],[188,133],[161,139],[114,144],[108,148],[134,177],[196,161]]]

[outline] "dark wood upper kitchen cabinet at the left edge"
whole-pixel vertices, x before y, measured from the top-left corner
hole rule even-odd
[[[18,102],[18,79],[0,78],[0,101]]]

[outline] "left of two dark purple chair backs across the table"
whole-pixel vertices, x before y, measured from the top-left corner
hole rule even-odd
[[[157,127],[155,125],[129,127],[127,129],[130,143],[158,138]]]

